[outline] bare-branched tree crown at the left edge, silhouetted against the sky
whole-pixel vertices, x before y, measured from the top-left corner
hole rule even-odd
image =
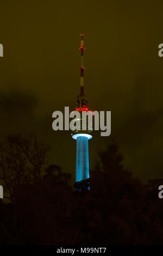
[[[7,136],[0,144],[0,179],[11,202],[22,184],[36,184],[41,180],[43,167],[48,163],[49,147],[31,134]]]

